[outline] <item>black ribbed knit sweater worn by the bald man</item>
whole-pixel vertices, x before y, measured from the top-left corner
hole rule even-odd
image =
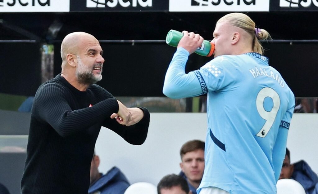
[[[79,91],[60,75],[42,84],[31,110],[22,194],[87,194],[101,126],[130,144],[140,145],[147,137],[149,111],[140,107],[144,117],[127,127],[110,118],[118,108],[116,99],[98,85]]]

